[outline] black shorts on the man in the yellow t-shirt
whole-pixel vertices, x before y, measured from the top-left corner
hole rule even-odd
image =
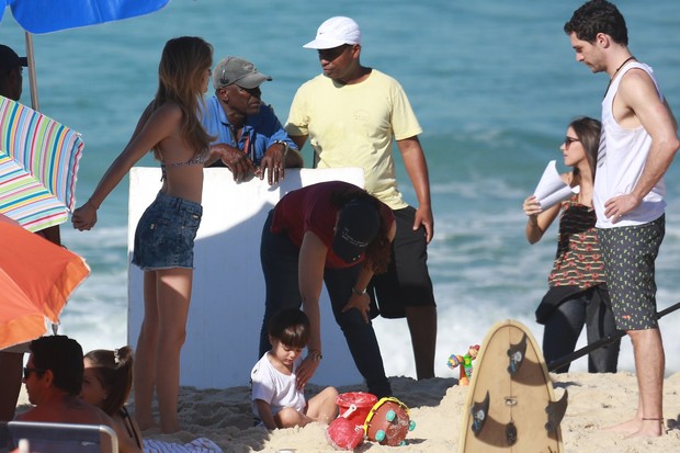
[[[397,234],[392,244],[392,260],[386,273],[371,281],[369,293],[377,302],[384,318],[404,318],[406,307],[435,306],[432,280],[428,272],[428,242],[423,226],[413,231],[416,209],[394,212]]]

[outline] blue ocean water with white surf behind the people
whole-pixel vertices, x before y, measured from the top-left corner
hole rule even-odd
[[[553,227],[542,242],[529,246],[521,205],[547,161],[562,165],[558,147],[568,122],[600,115],[607,76],[593,76],[577,64],[562,31],[580,3],[173,0],[144,18],[35,35],[41,110],[82,133],[77,196],[84,201],[152,98],[168,38],[202,36],[214,45],[215,60],[239,55],[254,61],[274,78],[263,86],[263,99],[285,121],[297,87],[319,72],[316,54],[302,45],[325,19],[352,16],[363,32],[362,61],[401,82],[424,129],[435,215],[429,262],[439,304],[437,373],[453,376],[447,356],[480,342],[497,320],[519,319],[542,337],[533,312],[547,287],[557,233]],[[628,22],[632,52],[654,67],[678,114],[679,3],[617,3]],[[24,53],[23,32],[10,10],[0,23],[0,43]],[[22,101],[30,103],[27,78]],[[305,158],[310,161],[309,149]],[[155,162],[145,158],[140,165]],[[400,165],[398,171],[403,192],[415,202]],[[657,260],[659,308],[680,298],[679,171],[676,163],[667,174],[667,235]],[[127,342],[126,183],[99,214],[98,227],[88,234],[69,224],[63,227],[65,245],[92,268],[65,309],[60,328],[86,350]],[[668,370],[678,371],[680,314],[664,318],[661,328]],[[410,350],[405,322],[378,320],[376,329],[388,373],[413,376],[410,354],[404,353]],[[633,370],[627,340],[620,367]],[[586,361],[577,361],[573,370],[586,370]]]

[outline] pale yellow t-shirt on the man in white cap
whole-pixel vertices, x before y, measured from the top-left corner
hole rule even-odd
[[[340,84],[324,75],[295,94],[285,125],[288,135],[308,135],[318,168],[360,167],[369,193],[400,209],[404,202],[395,177],[394,140],[422,129],[401,86],[373,69],[355,84]]]

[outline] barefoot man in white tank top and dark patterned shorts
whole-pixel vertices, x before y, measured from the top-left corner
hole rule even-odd
[[[593,205],[616,326],[633,343],[637,412],[611,428],[630,437],[664,433],[665,355],[656,317],[654,261],[664,238],[664,173],[680,141],[651,68],[628,50],[615,5],[591,0],[564,26],[576,60],[607,72]],[[631,272],[633,278],[631,278]]]

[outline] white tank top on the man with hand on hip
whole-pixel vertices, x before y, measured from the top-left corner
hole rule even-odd
[[[634,129],[626,129],[614,118],[612,105],[619,91],[623,75],[633,68],[639,68],[649,75],[656,86],[659,99],[664,95],[654,78],[651,68],[643,63],[626,64],[612,80],[604,100],[602,100],[602,135],[598,151],[598,166],[594,179],[592,203],[598,215],[598,228],[613,228],[633,226],[656,220],[664,214],[666,202],[666,186],[661,178],[643,199],[639,206],[624,215],[616,224],[604,217],[604,203],[613,196],[633,192],[635,184],[645,169],[645,162],[651,147],[651,137],[641,125]]]

